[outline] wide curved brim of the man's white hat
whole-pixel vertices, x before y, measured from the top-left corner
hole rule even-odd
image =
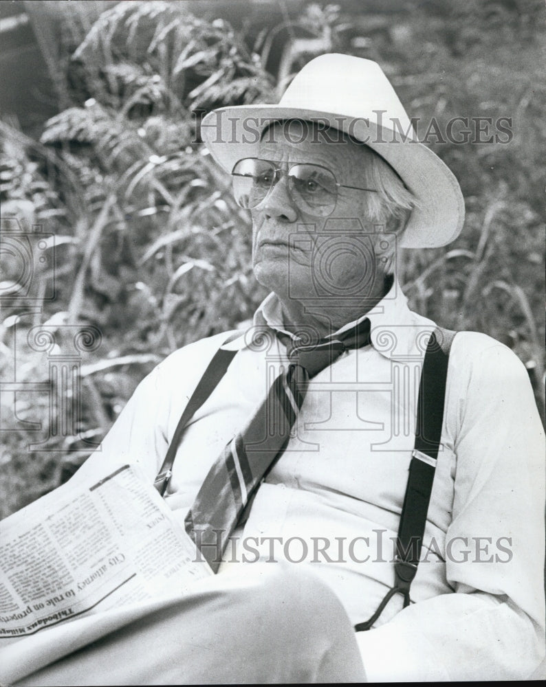
[[[274,104],[238,105],[208,113],[201,122],[201,138],[221,168],[230,173],[238,160],[257,155],[261,133],[267,126],[293,119],[345,131],[375,150],[400,175],[417,200],[402,234],[401,247],[437,248],[459,236],[464,200],[455,175],[422,143],[371,120]]]

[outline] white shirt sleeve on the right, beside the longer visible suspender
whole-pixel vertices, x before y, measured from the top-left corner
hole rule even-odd
[[[445,551],[455,593],[357,633],[370,682],[526,679],[544,657],[543,426],[510,349],[472,333],[455,342],[444,425],[457,454]]]

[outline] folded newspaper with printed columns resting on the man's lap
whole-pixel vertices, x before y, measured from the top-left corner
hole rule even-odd
[[[0,522],[0,646],[211,574],[138,466],[65,484]]]

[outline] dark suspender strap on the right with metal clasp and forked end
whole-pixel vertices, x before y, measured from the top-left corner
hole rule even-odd
[[[404,596],[404,608],[410,603],[410,587],[419,565],[444,423],[446,379],[453,337],[455,332],[437,328],[428,341],[417,397],[415,444],[396,539],[395,585],[386,593],[373,616],[355,625],[357,632],[369,630],[395,594]]]

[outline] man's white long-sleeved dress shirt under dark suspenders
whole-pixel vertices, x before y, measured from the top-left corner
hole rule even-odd
[[[283,329],[274,294],[259,313],[268,327],[226,345],[237,355],[177,451],[166,501],[182,521],[210,465],[287,362],[272,335]],[[256,558],[306,566],[334,589],[353,624],[367,620],[393,586],[420,371],[435,328],[409,310],[396,282],[366,316],[371,346],[345,352],[312,379],[293,436],[219,570],[240,565],[244,574]],[[137,462],[153,480],[225,340],[197,341],[160,363],[80,474]],[[374,628],[357,634],[371,682],[521,679],[540,663],[543,438],[521,361],[486,335],[459,333],[412,604],[402,610],[396,595]]]

